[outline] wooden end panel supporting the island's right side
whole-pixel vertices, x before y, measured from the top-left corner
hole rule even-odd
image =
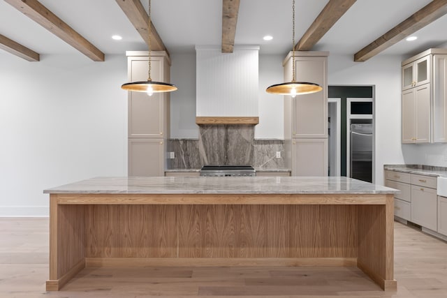
[[[385,205],[358,208],[358,267],[384,290],[395,290],[393,195]]]

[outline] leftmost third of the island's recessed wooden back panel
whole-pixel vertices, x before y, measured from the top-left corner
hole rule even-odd
[[[87,257],[177,257],[176,208],[174,205],[89,206],[86,223]],[[113,259],[110,260],[107,265],[114,265]],[[97,264],[101,264],[101,261]]]

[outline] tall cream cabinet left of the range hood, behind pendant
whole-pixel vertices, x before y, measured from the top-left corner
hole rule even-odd
[[[126,52],[129,82],[146,81],[148,52]],[[170,59],[166,52],[151,52],[151,78],[170,82]],[[166,144],[170,132],[169,93],[148,96],[142,92],[128,95],[128,174],[163,176],[166,167]]]

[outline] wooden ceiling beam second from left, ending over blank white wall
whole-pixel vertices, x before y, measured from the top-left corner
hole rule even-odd
[[[63,20],[59,19],[50,10],[37,0],[5,0],[10,5],[27,15],[31,20],[41,24],[45,29],[54,33],[76,50],[82,52],[93,61],[104,61],[104,54],[92,45],[80,33],[73,30]]]

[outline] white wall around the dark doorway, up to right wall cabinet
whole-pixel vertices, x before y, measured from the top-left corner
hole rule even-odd
[[[404,163],[400,141],[401,61],[400,56],[354,62],[353,55],[329,55],[329,85],[375,86],[376,184],[383,184],[384,164]]]

